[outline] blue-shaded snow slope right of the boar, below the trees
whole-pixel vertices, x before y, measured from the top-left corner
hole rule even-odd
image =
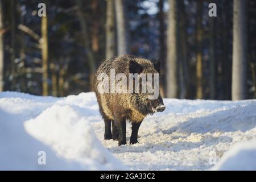
[[[204,111],[200,112],[199,114],[204,113]],[[255,118],[256,104],[254,101],[249,101],[246,105],[234,105],[230,109],[217,110],[205,117],[191,118],[184,125],[172,130],[179,133],[246,131],[255,127]]]

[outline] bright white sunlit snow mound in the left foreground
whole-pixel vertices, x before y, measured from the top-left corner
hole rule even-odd
[[[71,106],[53,105],[25,122],[28,134],[51,146],[56,154],[88,166],[88,169],[122,169],[100,143],[89,121]]]

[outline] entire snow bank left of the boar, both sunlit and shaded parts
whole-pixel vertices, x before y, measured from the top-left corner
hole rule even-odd
[[[92,97],[93,93],[67,98],[0,93],[0,169],[126,169],[90,126],[90,119],[99,117],[97,112],[92,117],[97,109],[89,103]],[[40,151],[46,154],[46,165],[38,163]]]

